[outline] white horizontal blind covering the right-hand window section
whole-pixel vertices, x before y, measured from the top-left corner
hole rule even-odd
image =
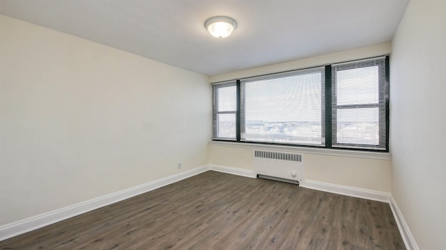
[[[385,58],[332,65],[332,147],[386,149]]]

